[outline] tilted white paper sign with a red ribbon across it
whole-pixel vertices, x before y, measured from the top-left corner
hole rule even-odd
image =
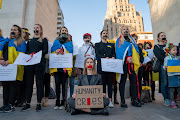
[[[14,64],[17,65],[35,65],[41,62],[42,51],[37,52],[33,56],[19,53]]]

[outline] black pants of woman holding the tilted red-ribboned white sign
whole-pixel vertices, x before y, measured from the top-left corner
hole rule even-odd
[[[33,93],[34,75],[36,77],[37,102],[43,97],[43,79],[45,67],[42,64],[25,66],[26,102],[30,103]]]

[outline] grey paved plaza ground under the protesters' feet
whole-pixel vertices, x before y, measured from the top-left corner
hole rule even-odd
[[[136,108],[130,105],[127,99],[128,108],[109,108],[109,116],[81,114],[71,116],[65,110],[54,110],[55,100],[49,100],[48,107],[42,107],[41,112],[35,112],[36,96],[33,96],[31,107],[27,112],[21,112],[21,108],[11,113],[0,113],[0,120],[180,120],[180,108],[171,109],[163,105],[161,94],[156,94],[156,101],[146,103],[143,107]],[[0,96],[2,105],[2,95]]]

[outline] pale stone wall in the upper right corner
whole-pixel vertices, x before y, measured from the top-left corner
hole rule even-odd
[[[165,32],[168,42],[179,43],[180,0],[149,0],[154,42],[157,34]]]

